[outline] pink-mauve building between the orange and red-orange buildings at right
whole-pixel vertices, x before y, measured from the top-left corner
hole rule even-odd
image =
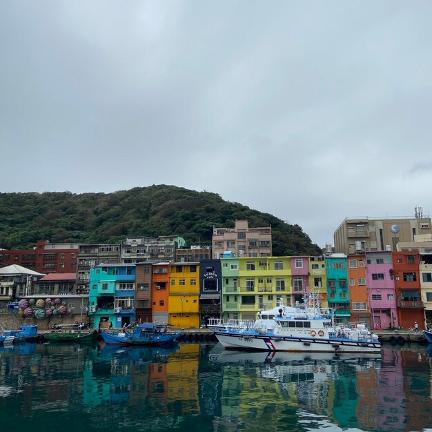
[[[391,251],[366,252],[366,288],[371,321],[369,327],[397,328],[395,282]]]

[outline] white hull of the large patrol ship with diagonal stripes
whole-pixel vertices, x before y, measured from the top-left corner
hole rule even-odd
[[[242,335],[215,331],[224,348],[262,351],[293,351],[315,353],[380,353],[380,342],[353,341],[347,338],[278,337],[275,335]]]

